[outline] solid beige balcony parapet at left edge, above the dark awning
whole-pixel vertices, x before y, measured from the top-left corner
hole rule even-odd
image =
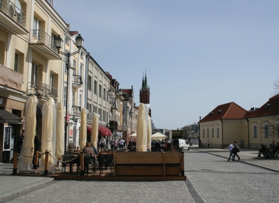
[[[23,75],[0,64],[0,92],[2,96],[22,95]]]

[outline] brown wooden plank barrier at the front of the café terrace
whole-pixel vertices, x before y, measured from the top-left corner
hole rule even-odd
[[[184,152],[115,152],[114,176],[184,176]]]

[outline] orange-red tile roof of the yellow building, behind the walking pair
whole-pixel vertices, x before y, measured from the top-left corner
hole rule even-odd
[[[207,114],[204,118],[202,118],[200,122],[220,120],[220,119],[243,119],[247,111],[234,102],[219,105],[209,114]]]

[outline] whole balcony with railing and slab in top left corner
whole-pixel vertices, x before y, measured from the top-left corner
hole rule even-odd
[[[14,35],[27,35],[26,11],[21,10],[21,5],[14,5],[10,0],[0,1],[0,21],[5,29]]]

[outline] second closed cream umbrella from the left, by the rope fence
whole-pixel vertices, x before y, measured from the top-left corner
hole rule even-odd
[[[48,97],[48,99],[45,101],[45,104],[43,106],[43,134],[42,134],[42,153],[44,153],[46,150],[50,152],[52,156],[55,156],[55,148],[53,149],[53,141],[56,141],[56,135],[54,129],[56,129],[56,109],[54,104],[54,99],[51,97]],[[41,156],[42,161],[42,169],[45,167],[45,155]],[[55,172],[54,167],[54,160],[49,156],[49,173]]]

